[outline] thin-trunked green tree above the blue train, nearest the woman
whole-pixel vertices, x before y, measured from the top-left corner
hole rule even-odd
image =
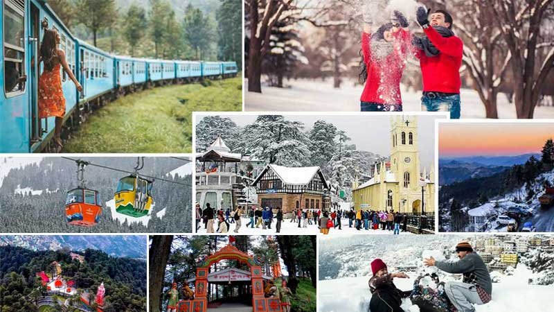
[[[76,0],[77,17],[93,35],[94,46],[100,31],[109,29],[117,19],[115,0]]]

